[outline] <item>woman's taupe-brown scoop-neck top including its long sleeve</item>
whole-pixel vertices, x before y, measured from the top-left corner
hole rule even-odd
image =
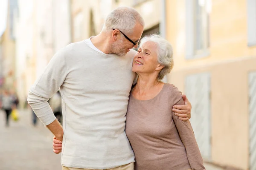
[[[130,94],[125,131],[134,150],[135,170],[205,170],[191,124],[174,115],[175,104],[184,101],[172,84],[165,84],[149,100]]]

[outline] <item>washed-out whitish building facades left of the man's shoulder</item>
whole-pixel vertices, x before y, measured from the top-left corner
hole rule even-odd
[[[30,86],[55,52],[71,43],[70,23],[69,0],[9,0],[0,38],[0,88],[15,90],[26,102]]]

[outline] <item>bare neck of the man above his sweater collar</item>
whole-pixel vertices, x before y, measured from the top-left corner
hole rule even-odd
[[[101,32],[100,34],[96,35],[95,37],[92,37],[91,42],[93,45],[98,48],[100,51],[102,51],[105,54],[112,54],[110,49],[110,43],[109,38],[107,34]]]

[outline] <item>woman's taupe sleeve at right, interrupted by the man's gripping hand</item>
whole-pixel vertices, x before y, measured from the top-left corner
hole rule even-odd
[[[172,97],[175,105],[184,105],[181,92],[175,87],[172,89]],[[175,116],[172,112],[172,119],[175,122],[175,126],[179,132],[180,139],[186,148],[187,158],[189,160],[192,170],[205,170],[203,158],[201,156],[198,144],[195,139],[195,134],[192,126],[188,121],[184,122]]]

